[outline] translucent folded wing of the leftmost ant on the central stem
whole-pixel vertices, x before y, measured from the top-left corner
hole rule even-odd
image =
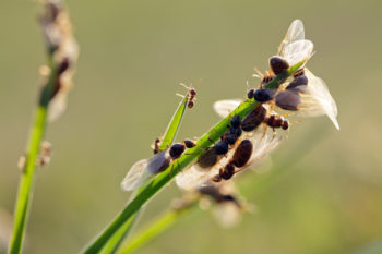
[[[121,182],[124,191],[134,191],[156,174],[168,159],[166,152],[135,162]]]

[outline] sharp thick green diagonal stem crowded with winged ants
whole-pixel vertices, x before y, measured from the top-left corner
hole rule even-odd
[[[276,85],[294,74],[306,60],[293,65],[287,71],[277,75],[271,81],[267,87],[276,87]],[[99,253],[107,241],[119,230],[120,227],[133,216],[142,205],[144,205],[154,194],[164,188],[172,178],[181,170],[191,165],[203,153],[203,148],[212,146],[228,130],[228,122],[232,116],[239,116],[241,119],[248,116],[256,106],[254,99],[247,99],[240,104],[229,116],[217,123],[213,129],[205,133],[198,142],[195,147],[187,149],[179,159],[175,160],[163,173],[155,177],[136,196],[124,207],[124,209],[111,221],[104,232],[83,252],[84,254]]]

